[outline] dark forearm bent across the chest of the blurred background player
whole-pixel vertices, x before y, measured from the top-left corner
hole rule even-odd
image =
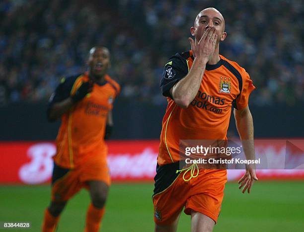
[[[73,96],[55,103],[50,109],[48,115],[49,120],[55,121],[68,112],[75,104],[82,100],[87,93],[92,91],[92,85],[92,82],[83,82]]]

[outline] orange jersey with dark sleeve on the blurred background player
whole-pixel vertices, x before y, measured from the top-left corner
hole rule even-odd
[[[86,73],[63,79],[51,99],[51,104],[75,94],[81,83],[88,80]],[[62,116],[56,139],[57,152],[54,156],[58,165],[74,168],[88,158],[87,154],[92,154],[92,151],[96,151],[95,158],[106,158],[104,133],[107,115],[119,91],[119,84],[106,75],[103,84],[94,83],[92,92]]]

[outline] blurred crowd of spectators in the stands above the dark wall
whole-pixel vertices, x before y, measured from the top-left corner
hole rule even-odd
[[[62,76],[84,71],[93,44],[115,54],[110,75],[119,78],[122,97],[165,103],[158,87],[165,59],[189,50],[184,28],[207,5],[229,25],[222,54],[254,80],[250,103],[303,104],[301,0],[2,0],[0,106],[45,101]]]

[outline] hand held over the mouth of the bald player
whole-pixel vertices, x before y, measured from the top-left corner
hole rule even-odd
[[[217,39],[218,35],[215,27],[208,27],[197,45],[192,38],[189,38],[193,56],[207,64],[214,53]]]

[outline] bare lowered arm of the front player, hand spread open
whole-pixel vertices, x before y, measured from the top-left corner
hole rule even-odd
[[[253,120],[249,107],[247,106],[242,110],[234,109],[233,113],[245,156],[247,159],[254,159]],[[258,180],[255,174],[255,165],[246,165],[246,172],[238,181],[239,189],[243,188],[242,193],[246,190],[250,193],[254,180]]]

